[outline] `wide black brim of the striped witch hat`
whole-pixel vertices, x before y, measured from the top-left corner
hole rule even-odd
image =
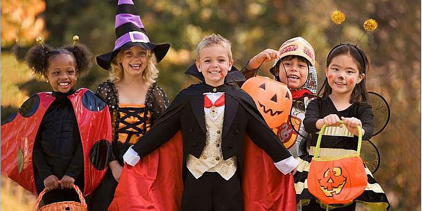
[[[111,51],[109,53],[100,55],[96,57],[97,64],[105,69],[110,70],[111,61],[116,57],[120,50],[125,50],[132,48],[134,46],[141,47],[146,50],[152,50],[157,58],[157,63],[159,63],[162,59],[164,59],[165,55],[167,54],[168,50],[170,49],[170,44],[154,44],[154,43],[137,43],[137,42],[129,42],[123,45],[122,47]]]

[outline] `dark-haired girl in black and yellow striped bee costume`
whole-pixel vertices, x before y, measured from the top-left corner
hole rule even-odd
[[[368,60],[364,52],[354,45],[336,46],[328,54],[325,68],[326,78],[319,91],[321,97],[309,103],[304,119],[305,129],[311,135],[309,155],[300,156],[301,163],[294,175],[296,197],[299,203],[303,205],[302,210],[304,211],[325,210],[323,208],[325,205],[319,203],[309,193],[306,184],[310,161],[315,152],[318,137],[316,133],[322,126],[340,126],[340,130],[338,130],[338,133],[336,132],[337,136],[323,135],[324,141],[321,141],[319,152],[319,155],[323,157],[356,154],[358,143],[356,126],[361,128],[363,140],[369,140],[372,136],[373,114],[371,106],[367,103],[368,97],[365,87],[367,69]],[[341,120],[344,125],[340,125]],[[365,172],[368,181],[363,193],[351,204],[341,208],[330,205],[330,210],[335,208],[335,211],[354,211],[356,203],[362,203],[371,211],[389,210],[390,205],[387,197],[366,166]],[[342,176],[341,171],[334,172],[334,176]],[[332,177],[334,176],[332,175]],[[327,185],[329,186],[328,191],[331,194],[340,194],[343,188],[343,186],[335,184],[336,181],[332,179],[331,182],[327,182],[329,184]],[[323,182],[320,181],[322,185]],[[334,190],[334,188],[337,189]]]

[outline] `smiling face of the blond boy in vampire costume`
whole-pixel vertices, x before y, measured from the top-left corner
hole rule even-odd
[[[211,86],[224,84],[224,78],[233,65],[229,59],[227,48],[214,44],[199,51],[198,60],[195,62],[198,71],[202,72],[205,82]]]

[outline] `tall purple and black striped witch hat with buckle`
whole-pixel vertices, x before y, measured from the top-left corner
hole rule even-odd
[[[160,62],[170,48],[170,44],[154,44],[149,41],[133,0],[119,0],[114,28],[116,29],[116,42],[113,51],[97,56],[97,64],[105,70],[110,69],[111,61],[122,49],[138,46],[152,50],[157,62]]]

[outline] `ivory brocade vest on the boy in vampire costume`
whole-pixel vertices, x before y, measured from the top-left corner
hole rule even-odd
[[[224,93],[204,93],[215,103]],[[204,96],[205,97],[205,96]],[[225,180],[229,180],[237,169],[237,157],[233,156],[223,160],[221,150],[221,134],[224,121],[224,105],[211,108],[204,107],[207,140],[200,158],[188,154],[186,166],[196,179],[205,172],[217,172]]]

